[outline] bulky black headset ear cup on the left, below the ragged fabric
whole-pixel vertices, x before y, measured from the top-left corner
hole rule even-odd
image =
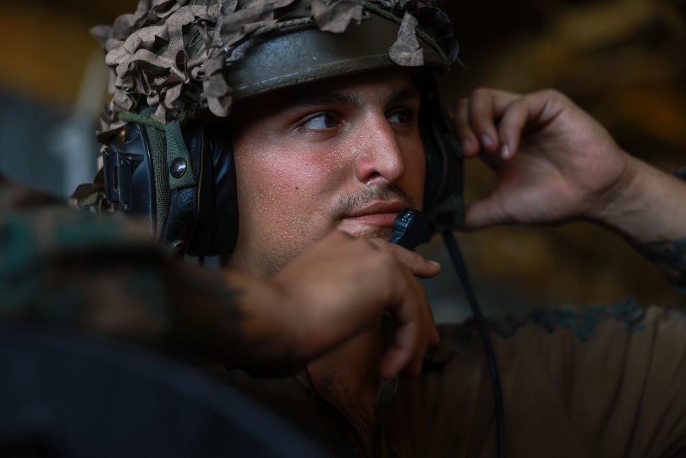
[[[230,139],[212,123],[187,126],[183,134],[196,185],[171,189],[165,133],[132,122],[103,151],[107,198],[144,216],[151,235],[174,251],[228,257],[238,236]]]

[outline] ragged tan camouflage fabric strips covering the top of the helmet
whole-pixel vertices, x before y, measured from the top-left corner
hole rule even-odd
[[[119,16],[113,26],[91,33],[106,52],[113,99],[102,113],[98,139],[106,143],[126,122],[120,113],[155,108],[152,119],[167,124],[180,117],[211,113],[227,117],[232,89],[224,79],[230,50],[264,30],[276,30],[296,19],[311,19],[320,30],[341,33],[362,19],[363,5],[393,12],[407,8],[397,42],[389,56],[399,65],[422,65],[415,27],[420,19],[445,47],[449,63],[457,42],[449,20],[433,0],[141,0],[134,14]],[[289,5],[295,11],[281,14]]]

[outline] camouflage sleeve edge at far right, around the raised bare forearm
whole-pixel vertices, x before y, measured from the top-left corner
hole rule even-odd
[[[674,175],[686,181],[686,167]],[[635,243],[634,246],[664,273],[679,293],[686,296],[686,238]]]

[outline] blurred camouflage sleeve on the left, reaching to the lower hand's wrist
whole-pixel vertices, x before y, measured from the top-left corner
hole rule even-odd
[[[181,262],[139,221],[95,213],[0,175],[0,321],[225,361],[241,354],[240,286],[219,269]]]

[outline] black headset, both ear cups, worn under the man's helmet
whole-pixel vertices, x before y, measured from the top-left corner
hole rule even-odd
[[[426,72],[414,78],[421,89],[428,239],[462,221],[464,170],[462,150],[438,99],[436,78]],[[141,122],[126,124],[103,148],[106,196],[118,209],[145,218],[155,238],[174,251],[226,258],[235,248],[239,225],[230,138],[225,127],[212,121],[189,122],[182,136],[189,157],[171,158],[164,131]],[[191,173],[195,185],[169,183],[168,176]]]

